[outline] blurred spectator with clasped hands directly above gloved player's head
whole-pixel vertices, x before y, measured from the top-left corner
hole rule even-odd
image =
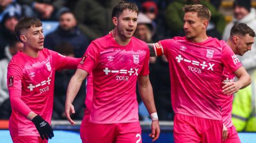
[[[62,11],[68,10],[64,7],[64,0],[17,0],[22,5],[25,16],[36,17],[44,20],[58,20]]]

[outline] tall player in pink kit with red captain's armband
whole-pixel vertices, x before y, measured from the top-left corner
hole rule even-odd
[[[203,5],[185,5],[183,11],[186,37],[149,44],[157,56],[164,54],[169,62],[174,141],[221,142],[223,68],[239,78],[223,86],[225,94],[236,92],[236,85],[239,88],[249,85],[251,79],[225,41],[206,35],[209,9]]]

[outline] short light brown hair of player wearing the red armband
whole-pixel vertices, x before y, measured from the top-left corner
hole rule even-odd
[[[205,18],[208,21],[211,20],[211,11],[202,4],[184,5],[182,7],[183,12],[197,12],[198,18]]]

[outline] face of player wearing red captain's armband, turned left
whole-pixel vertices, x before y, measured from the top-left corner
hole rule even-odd
[[[193,40],[201,35],[206,26],[202,18],[198,18],[197,12],[186,12],[183,18],[183,29],[187,39]]]

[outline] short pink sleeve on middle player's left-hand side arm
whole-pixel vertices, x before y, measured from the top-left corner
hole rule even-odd
[[[91,73],[92,70],[97,65],[98,61],[98,51],[97,46],[92,42],[86,49],[85,54],[82,57],[82,60],[78,64],[77,68],[82,69],[88,73]]]

